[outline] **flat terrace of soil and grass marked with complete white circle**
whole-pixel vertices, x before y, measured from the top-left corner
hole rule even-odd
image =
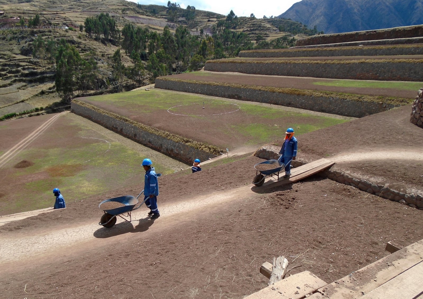
[[[349,119],[163,89],[136,90],[78,100],[166,132],[231,149],[245,145],[261,146],[278,140],[287,127],[294,127],[296,134],[301,135]]]

